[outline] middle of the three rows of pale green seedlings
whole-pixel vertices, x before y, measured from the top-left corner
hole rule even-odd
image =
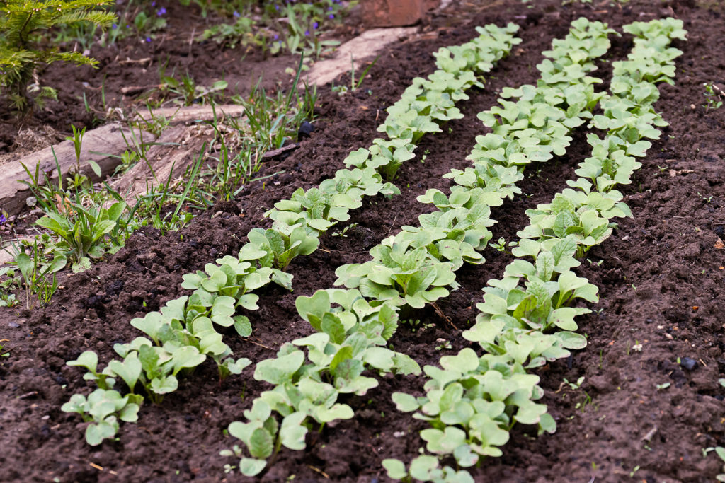
[[[600,46],[608,32],[600,22],[579,20],[574,22],[568,38],[576,36]],[[595,66],[590,59],[604,54],[606,47],[608,43],[603,48],[589,49],[583,56],[576,51],[554,51],[555,69],[564,72],[573,65],[583,65],[591,72]],[[566,84],[562,80],[544,82],[547,93],[558,93],[560,100],[555,106],[543,101],[522,101],[534,109],[551,107],[540,126],[542,133],[550,133],[542,134],[547,146],[542,149],[566,146],[571,140],[566,138],[571,127],[561,121],[581,125],[584,118],[591,117],[587,107],[596,104],[581,104],[581,109],[560,105]],[[557,129],[559,126],[562,128]],[[528,123],[523,128],[529,129]],[[542,155],[538,160],[551,157]],[[229,433],[244,442],[249,457],[244,456],[239,445],[224,452],[242,456],[239,468],[243,474],[259,474],[267,466],[267,459],[282,446],[292,450],[305,448],[305,434],[312,421],[321,429],[334,419],[352,418],[352,408],[339,403],[338,398],[350,392],[364,395],[378,385],[377,379],[363,375],[366,369],[378,373],[420,372],[415,361],[384,347],[397,328],[397,313],[403,307],[423,308],[446,297],[449,289],[457,288],[455,271],[464,262],[484,262],[479,251],[486,247],[491,238],[488,227],[495,223],[490,218],[490,209],[500,206],[504,198],[521,193],[515,183],[523,178],[523,164],[518,160],[504,166],[481,156],[472,168],[445,175],[457,184],[451,188],[450,196],[428,190],[418,197],[421,203],[433,203],[437,209],[422,214],[419,227],[403,227],[397,235],[373,247],[373,260],[336,270],[339,278],[335,285],[344,285],[349,290],[318,290],[312,297],[297,298],[300,316],[316,332],[284,344],[276,358],[257,364],[254,378],[274,388],[262,392],[252,403],[252,409],[244,411],[246,422],[235,421],[229,426]],[[282,417],[281,424],[276,414]]]

